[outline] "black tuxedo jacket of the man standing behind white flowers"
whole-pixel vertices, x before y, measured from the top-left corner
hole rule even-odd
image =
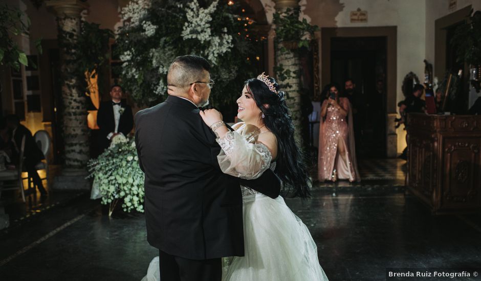
[[[124,112],[120,114],[118,132],[125,136],[132,131],[134,127],[134,116],[132,115],[132,108],[128,106],[123,100],[120,107],[125,108]],[[110,140],[107,135],[115,131],[114,107],[112,101],[101,102],[97,112],[97,125],[99,126],[99,147],[103,151],[110,145]]]

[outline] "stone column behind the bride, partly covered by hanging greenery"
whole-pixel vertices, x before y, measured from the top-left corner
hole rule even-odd
[[[276,12],[285,12],[286,9],[294,9],[299,5],[299,0],[273,0]],[[300,61],[299,56],[294,49],[297,48],[298,42],[279,42],[275,46],[275,65],[281,66],[290,71],[289,78],[279,81],[282,85],[290,85],[291,87],[283,87],[286,90],[286,103],[291,110],[292,119],[296,128],[295,138],[298,142],[302,143],[301,128],[302,128],[302,114],[301,114],[301,97],[300,97]],[[285,48],[282,48],[285,47]],[[278,75],[279,76],[279,75]],[[279,77],[277,77],[279,78]]]

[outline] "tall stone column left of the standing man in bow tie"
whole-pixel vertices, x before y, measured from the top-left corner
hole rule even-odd
[[[85,180],[86,163],[90,157],[89,128],[85,91],[80,86],[83,73],[77,69],[76,43],[80,34],[80,13],[88,4],[79,0],[48,0],[57,16],[58,44],[60,46],[60,71],[62,105],[62,137],[64,139],[64,163],[62,173],[54,180],[55,189],[89,189]]]

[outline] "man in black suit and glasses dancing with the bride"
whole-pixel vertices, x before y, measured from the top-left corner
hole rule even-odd
[[[162,281],[221,280],[221,257],[244,255],[239,184],[272,198],[280,191],[271,170],[249,181],[222,173],[221,148],[198,109],[213,85],[209,68],[202,57],[176,58],[166,101],[135,116],[147,240],[159,249]]]

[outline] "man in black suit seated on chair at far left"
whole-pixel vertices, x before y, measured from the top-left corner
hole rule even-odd
[[[47,195],[47,191],[43,188],[42,180],[38,176],[37,169],[35,165],[38,164],[42,159],[45,159],[43,152],[37,146],[32,133],[24,125],[20,124],[20,119],[17,115],[7,115],[5,118],[7,122],[7,127],[11,130],[12,143],[14,145],[15,154],[13,157],[17,159],[20,154],[21,140],[25,136],[25,148],[24,148],[24,165],[28,172],[28,176],[32,178],[33,184],[37,186],[38,191],[42,197]],[[13,160],[13,159],[12,159]],[[18,163],[16,163],[18,165]],[[30,186],[29,186],[30,188]],[[34,191],[34,190],[33,190]],[[32,191],[27,191],[27,194]]]

